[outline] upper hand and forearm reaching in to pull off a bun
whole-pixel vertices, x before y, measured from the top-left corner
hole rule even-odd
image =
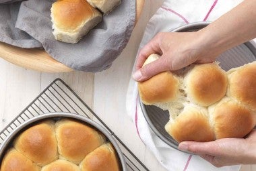
[[[212,62],[225,50],[256,38],[255,7],[255,1],[245,0],[197,32],[157,34],[139,52],[133,79],[143,81],[193,62]],[[162,57],[143,66],[154,53]]]

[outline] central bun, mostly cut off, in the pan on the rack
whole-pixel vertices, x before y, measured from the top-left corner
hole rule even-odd
[[[79,167],[67,160],[56,160],[42,167],[41,171],[79,171]]]

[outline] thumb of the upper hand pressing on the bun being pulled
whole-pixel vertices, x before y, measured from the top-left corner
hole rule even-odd
[[[166,62],[166,58],[162,56],[158,58],[158,60],[150,62],[149,64],[146,64],[145,66],[137,70],[133,74],[133,79],[136,81],[148,80],[152,76],[166,70],[170,70],[170,66],[168,65],[168,62]]]

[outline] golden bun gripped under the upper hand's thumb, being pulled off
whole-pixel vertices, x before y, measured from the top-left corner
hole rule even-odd
[[[153,54],[148,57],[145,63],[152,62],[157,58],[158,55]],[[170,71],[166,71],[149,80],[138,82],[138,89],[141,101],[146,105],[170,102],[177,97],[179,80]]]

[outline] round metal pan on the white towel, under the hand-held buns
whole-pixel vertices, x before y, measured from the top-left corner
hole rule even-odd
[[[190,23],[187,25],[183,25],[178,27],[175,30],[171,30],[170,32],[196,32],[197,30],[206,27],[209,22],[197,22]],[[247,64],[249,62],[253,62],[256,60],[256,49],[251,42],[246,42],[245,44],[241,44],[236,46],[223,54],[221,54],[217,60],[220,62],[220,66],[224,70],[229,70],[230,68],[238,67],[243,64]],[[175,141],[164,129],[164,126],[169,121],[169,113],[168,111],[164,111],[154,105],[144,105],[139,99],[139,103],[141,106],[142,113],[150,125],[150,128],[154,133],[162,139],[166,144],[175,148],[177,150],[179,143]]]

